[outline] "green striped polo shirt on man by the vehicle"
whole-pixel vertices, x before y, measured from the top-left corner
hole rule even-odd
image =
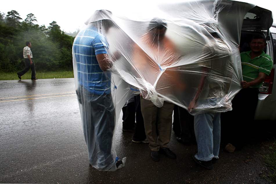
[[[241,53],[241,68],[242,68],[242,76],[243,80],[250,82],[259,76],[259,72],[263,72],[267,75],[270,74],[270,71],[273,66],[273,61],[269,55],[262,51],[261,55],[251,59],[250,52],[242,52]],[[258,88],[259,85],[252,86],[253,88]]]

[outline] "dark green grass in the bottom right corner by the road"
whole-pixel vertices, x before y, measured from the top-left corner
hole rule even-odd
[[[273,183],[276,183],[276,142],[269,149],[270,153],[263,156],[266,167],[269,169],[265,177],[272,180]]]

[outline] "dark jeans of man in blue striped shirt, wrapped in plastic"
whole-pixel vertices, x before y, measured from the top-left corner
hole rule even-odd
[[[111,94],[93,94],[80,86],[77,97],[89,162],[99,170],[108,170],[115,166],[116,159],[112,150],[115,108]]]

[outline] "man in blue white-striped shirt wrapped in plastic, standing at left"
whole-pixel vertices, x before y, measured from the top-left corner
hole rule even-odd
[[[94,16],[109,14],[107,10],[97,10]],[[119,160],[112,148],[116,122],[111,72],[108,71],[112,61],[108,56],[109,44],[99,31],[107,32],[114,23],[100,19],[87,24],[73,42],[74,75],[84,139],[90,165],[98,170],[114,171],[124,166],[125,159]]]

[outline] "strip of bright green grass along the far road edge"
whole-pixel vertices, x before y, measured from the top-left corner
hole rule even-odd
[[[31,70],[21,76],[22,80],[31,79]],[[58,71],[58,72],[36,72],[36,77],[42,78],[73,78],[73,71]],[[18,80],[16,72],[14,73],[0,73],[0,80]]]

